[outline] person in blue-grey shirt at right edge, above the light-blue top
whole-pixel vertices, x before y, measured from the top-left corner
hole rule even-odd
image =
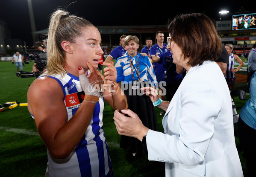
[[[250,50],[248,55],[248,73],[247,73],[247,92],[249,92],[250,88],[250,78],[256,71],[256,43],[253,44],[253,48]]]

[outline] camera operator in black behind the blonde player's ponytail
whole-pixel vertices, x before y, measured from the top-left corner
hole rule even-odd
[[[35,42],[35,44],[31,48],[35,49],[35,50],[42,51],[42,53],[41,53],[41,55],[43,55],[42,58],[47,58],[47,53],[46,53],[47,49],[46,49],[46,46],[42,42],[40,42],[40,41]],[[41,63],[35,62],[32,67],[32,72],[35,73],[36,75],[40,75],[41,73],[44,73],[46,71],[47,71],[46,66],[41,66]]]

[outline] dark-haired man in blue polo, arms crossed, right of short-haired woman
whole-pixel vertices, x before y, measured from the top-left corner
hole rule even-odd
[[[166,49],[167,44],[164,44],[165,35],[162,31],[156,32],[156,40],[157,44],[152,46],[150,49],[150,55],[151,58],[155,58],[157,55],[160,55],[163,52],[167,52],[168,49]],[[164,71],[164,65],[162,61],[158,61],[154,63],[154,70],[156,73],[156,80],[159,83],[160,81],[164,81],[165,78],[165,71]],[[162,89],[159,88],[159,98],[162,100],[165,100],[165,96],[162,93]],[[164,115],[165,111],[162,110],[160,115]]]

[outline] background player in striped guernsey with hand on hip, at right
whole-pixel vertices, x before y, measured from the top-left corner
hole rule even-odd
[[[235,73],[238,72],[241,67],[244,66],[244,62],[238,57],[238,55],[235,55],[232,53],[234,47],[232,44],[226,44],[225,48],[227,49],[228,55],[229,55],[229,65],[227,67],[227,72],[225,75],[227,84],[231,91],[234,91],[235,86]],[[237,69],[235,69],[235,61],[238,61],[239,66]],[[234,100],[234,98],[232,97]]]

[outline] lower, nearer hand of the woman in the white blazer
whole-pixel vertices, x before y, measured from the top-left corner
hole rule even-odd
[[[113,118],[118,134],[131,136],[141,141],[149,129],[142,124],[141,119],[132,110],[121,110],[121,112],[115,110]]]

